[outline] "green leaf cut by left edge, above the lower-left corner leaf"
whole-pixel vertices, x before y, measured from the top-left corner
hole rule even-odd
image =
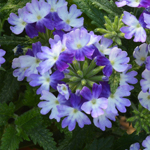
[[[0,126],[6,125],[8,119],[14,115],[15,106],[11,102],[9,105],[0,103]]]

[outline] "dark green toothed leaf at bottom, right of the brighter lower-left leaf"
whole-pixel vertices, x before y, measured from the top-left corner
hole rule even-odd
[[[29,136],[34,144],[39,144],[43,147],[44,150],[55,150],[56,143],[52,138],[52,133],[49,132],[42,124],[34,127],[32,130],[29,131]]]

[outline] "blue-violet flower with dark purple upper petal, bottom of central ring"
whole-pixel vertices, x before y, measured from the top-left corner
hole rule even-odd
[[[75,94],[71,94],[69,101],[71,103],[71,106],[67,105],[57,106],[59,116],[60,117],[67,116],[62,121],[62,128],[68,126],[69,131],[72,131],[76,126],[76,122],[78,123],[80,128],[83,128],[85,124],[91,124],[90,119],[83,112],[81,112],[80,107],[83,103],[81,97]]]

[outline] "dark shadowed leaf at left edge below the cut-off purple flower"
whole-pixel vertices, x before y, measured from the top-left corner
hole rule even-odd
[[[4,79],[4,86],[0,91],[0,102],[8,102],[14,98],[15,93],[19,90],[19,82],[12,75],[12,71],[7,71]]]

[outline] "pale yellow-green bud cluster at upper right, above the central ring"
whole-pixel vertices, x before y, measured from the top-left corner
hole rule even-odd
[[[124,38],[124,33],[120,31],[120,28],[124,26],[122,22],[123,15],[118,18],[118,16],[115,16],[114,22],[112,22],[107,16],[104,16],[105,19],[105,28],[97,28],[95,29],[95,32],[100,32],[101,34],[104,34],[105,38],[112,39],[116,44],[122,45],[121,39]]]

